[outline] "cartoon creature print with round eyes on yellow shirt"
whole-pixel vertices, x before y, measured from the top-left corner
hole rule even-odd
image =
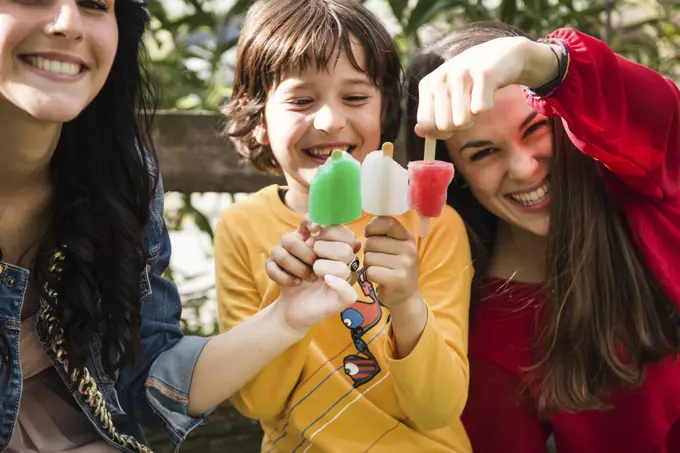
[[[361,292],[371,301],[357,300],[340,314],[343,324],[350,330],[357,350],[357,354],[348,355],[343,360],[345,374],[354,381],[354,388],[367,383],[380,373],[380,365],[363,337],[382,318],[382,304],[378,300],[373,283],[366,278],[365,268],[359,271],[358,277]]]

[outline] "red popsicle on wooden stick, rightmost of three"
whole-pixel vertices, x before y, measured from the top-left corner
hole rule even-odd
[[[436,146],[436,140],[428,135],[424,159],[408,164],[408,201],[420,217],[420,237],[427,236],[430,219],[439,217],[444,209],[447,189],[453,180],[453,164],[435,160]]]

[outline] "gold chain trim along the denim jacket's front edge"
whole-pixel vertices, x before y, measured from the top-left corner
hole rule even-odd
[[[63,270],[61,264],[64,259],[65,255],[61,250],[57,250],[50,258],[49,270],[57,279],[59,279],[59,274]],[[40,317],[47,328],[47,334],[50,338],[52,351],[54,351],[57,356],[57,362],[64,367],[64,371],[71,379],[71,382],[77,384],[78,393],[80,393],[84,397],[85,402],[90,405],[95,417],[99,418],[102,427],[106,430],[112,441],[122,447],[130,448],[139,453],[153,453],[149,447],[140,443],[132,436],[120,433],[116,427],[113,426],[111,413],[106,409],[104,395],[97,389],[97,383],[92,376],[90,376],[90,372],[86,367],[83,367],[82,370],[73,368],[69,373],[68,356],[66,348],[64,347],[64,330],[59,327],[59,318],[54,314],[54,307],[52,306],[53,303],[57,302],[57,296],[59,294],[50,288],[48,282],[45,282],[44,288],[49,299],[45,300],[45,308]]]

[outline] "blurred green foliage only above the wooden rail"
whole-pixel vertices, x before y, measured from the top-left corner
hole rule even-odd
[[[276,0],[271,0],[276,1]],[[234,48],[250,0],[151,0],[154,74],[163,108],[216,109],[230,94]],[[533,35],[562,26],[601,37],[617,52],[662,72],[679,44],[675,1],[368,0],[407,64],[423,43],[468,21],[500,20]]]

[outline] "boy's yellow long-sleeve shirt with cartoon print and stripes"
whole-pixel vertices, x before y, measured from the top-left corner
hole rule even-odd
[[[218,313],[228,330],[279,294],[264,264],[302,216],[269,186],[227,209],[215,236]],[[365,241],[372,216],[347,227]],[[397,217],[417,237],[418,217]],[[357,282],[357,302],[315,326],[232,397],[259,419],[263,452],[467,453],[468,311],[473,270],[462,220],[448,206],[418,238],[419,285],[428,309],[413,351],[394,359],[389,310],[377,285]],[[362,253],[359,253],[362,259]]]

